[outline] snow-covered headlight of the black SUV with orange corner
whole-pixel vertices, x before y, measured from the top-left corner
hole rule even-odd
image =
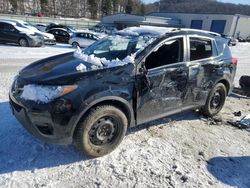
[[[30,84],[23,87],[21,98],[38,103],[49,103],[52,100],[64,96],[77,88],[77,85],[43,86]]]

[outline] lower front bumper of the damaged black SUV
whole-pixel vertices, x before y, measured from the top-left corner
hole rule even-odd
[[[56,125],[49,112],[34,111],[24,107],[10,93],[13,115],[34,137],[53,144],[71,144],[72,136],[65,126]]]

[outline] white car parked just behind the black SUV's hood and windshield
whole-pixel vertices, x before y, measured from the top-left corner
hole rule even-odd
[[[72,47],[87,47],[94,43],[95,41],[105,37],[106,35],[100,35],[91,31],[77,31],[74,32],[71,38],[69,39],[69,44]]]

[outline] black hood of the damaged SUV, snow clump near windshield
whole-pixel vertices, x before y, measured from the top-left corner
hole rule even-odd
[[[81,71],[79,67],[84,66]],[[74,56],[74,52],[52,56],[34,62],[23,68],[18,77],[26,84],[73,84],[77,80],[96,75],[97,72],[107,72],[113,68],[95,69],[93,64]],[[121,66],[119,67],[121,68]],[[100,74],[99,76],[102,76]]]

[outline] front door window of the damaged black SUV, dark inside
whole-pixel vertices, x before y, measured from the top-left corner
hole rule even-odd
[[[183,38],[169,40],[156,48],[145,61],[147,69],[183,61]]]

